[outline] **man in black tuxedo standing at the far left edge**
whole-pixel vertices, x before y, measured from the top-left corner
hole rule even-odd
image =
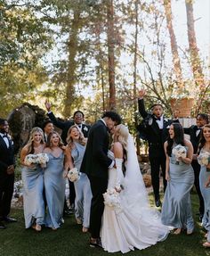
[[[9,217],[14,186],[14,153],[8,131],[7,120],[0,119],[0,229],[5,228],[3,221],[17,221]]]

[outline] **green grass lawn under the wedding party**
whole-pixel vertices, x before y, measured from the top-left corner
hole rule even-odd
[[[195,220],[198,219],[198,196],[191,194],[192,207]],[[65,224],[57,231],[44,228],[41,233],[24,228],[22,210],[12,210],[12,217],[17,223],[7,225],[0,230],[0,256],[77,256],[77,255],[108,255],[101,249],[88,246],[89,235],[81,232],[73,216],[65,219]],[[165,242],[158,243],[148,249],[128,252],[125,255],[141,256],[205,256],[210,255],[210,248],[205,249],[202,243],[205,232],[196,222],[193,235],[169,235]],[[122,255],[122,253],[109,253]]]

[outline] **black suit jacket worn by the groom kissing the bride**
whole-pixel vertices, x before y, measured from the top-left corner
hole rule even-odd
[[[107,127],[102,120],[98,120],[90,128],[80,170],[88,176],[107,179],[108,168],[112,162],[107,156],[108,149],[109,134]]]

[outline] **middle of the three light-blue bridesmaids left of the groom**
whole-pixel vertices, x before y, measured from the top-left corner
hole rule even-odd
[[[44,153],[47,153],[49,161],[44,169],[44,190],[47,202],[47,214],[45,226],[56,230],[63,221],[63,205],[65,200],[65,177],[67,171],[66,149],[61,142],[61,136],[55,131],[47,137]]]

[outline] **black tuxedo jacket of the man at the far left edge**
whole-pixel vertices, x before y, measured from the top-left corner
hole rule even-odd
[[[9,148],[7,148],[3,137],[0,136],[0,176],[6,175],[8,166],[14,164],[14,150],[11,139],[9,139],[9,145]]]

